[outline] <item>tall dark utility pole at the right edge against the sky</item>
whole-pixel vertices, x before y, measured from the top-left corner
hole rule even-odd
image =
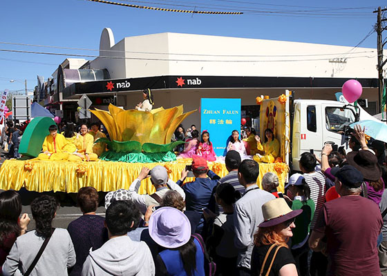
[[[381,112],[384,112],[384,106],[382,104],[382,95],[383,95],[383,88],[384,88],[384,79],[383,79],[383,66],[386,64],[386,61],[383,61],[383,47],[386,44],[387,41],[383,43],[383,37],[382,32],[386,30],[386,27],[382,26],[382,22],[386,21],[387,19],[381,19],[381,12],[385,12],[387,8],[384,8],[383,10],[381,7],[377,8],[377,10],[374,11],[374,13],[377,12],[377,25],[376,25],[376,32],[377,32],[377,72],[378,72],[378,79],[379,79],[379,85],[378,85],[378,92],[379,92],[379,104],[381,108]],[[386,115],[387,117],[387,115]]]

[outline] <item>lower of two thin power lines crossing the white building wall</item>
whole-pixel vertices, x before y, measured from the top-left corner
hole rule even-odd
[[[78,54],[68,54],[68,53],[57,53],[57,52],[37,52],[37,51],[25,51],[25,50],[10,50],[10,49],[0,49],[1,52],[19,52],[27,54],[37,54],[37,55],[57,55],[57,56],[67,56],[67,57],[100,57],[102,59],[130,59],[130,60],[147,60],[147,61],[190,61],[190,62],[238,62],[238,63],[254,63],[254,62],[289,62],[289,61],[322,61],[330,60],[332,58],[325,59],[283,59],[283,60],[207,60],[207,59],[152,59],[152,58],[141,58],[141,57],[108,57],[108,56],[95,56],[95,55],[78,55]],[[358,56],[358,57],[348,57],[348,59],[356,59],[361,57],[372,58],[370,56]]]

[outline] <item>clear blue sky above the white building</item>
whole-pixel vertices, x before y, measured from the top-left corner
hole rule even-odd
[[[243,10],[245,13],[192,15],[85,0],[3,0],[0,3],[0,42],[98,49],[102,29],[109,27],[116,42],[140,34],[182,32],[355,46],[375,25],[377,17],[372,11],[386,5],[386,1],[379,0],[126,0],[121,3],[184,10]],[[366,8],[357,9],[359,7]],[[387,37],[387,31],[384,37]],[[376,41],[374,32],[361,47],[376,48]],[[98,53],[3,43],[0,43],[0,49]],[[23,90],[24,79],[28,81],[28,89],[33,89],[37,85],[37,75],[43,75],[45,79],[50,77],[65,58],[0,51],[0,90]],[[11,79],[15,81],[10,83]]]

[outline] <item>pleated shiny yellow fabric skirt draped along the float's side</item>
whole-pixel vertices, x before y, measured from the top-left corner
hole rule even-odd
[[[77,193],[86,186],[93,186],[98,191],[108,192],[120,188],[128,189],[131,183],[140,174],[143,166],[153,168],[154,166],[166,166],[169,177],[178,181],[181,171],[186,165],[191,165],[191,159],[180,159],[164,163],[123,163],[98,160],[95,162],[69,162],[69,161],[40,161],[29,160],[32,170],[24,168],[24,161],[6,160],[0,168],[0,189],[20,190],[25,187],[27,190],[36,192]],[[208,162],[209,168],[213,169],[220,177],[227,175],[225,164]],[[86,173],[77,173],[79,166],[86,167]],[[214,168],[213,168],[214,167]],[[258,186],[261,187],[261,179],[266,172],[274,172],[274,164],[259,164]],[[279,175],[279,188],[283,191],[286,172]],[[185,181],[193,181],[193,177]],[[149,178],[142,181],[140,194],[152,194],[155,192]]]

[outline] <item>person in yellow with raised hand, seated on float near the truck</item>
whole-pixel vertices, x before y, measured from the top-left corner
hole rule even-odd
[[[261,139],[258,135],[255,136],[256,147],[258,153],[253,159],[257,162],[274,163],[276,157],[279,156],[279,140],[274,137],[274,133],[270,128],[265,130],[265,142],[261,144]]]

